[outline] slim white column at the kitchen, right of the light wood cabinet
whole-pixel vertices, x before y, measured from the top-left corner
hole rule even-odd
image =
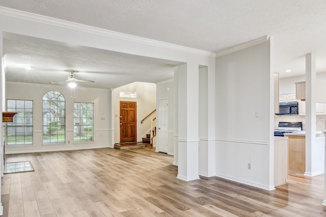
[[[316,60],[313,53],[306,55],[306,171],[312,175],[312,146],[316,138]]]

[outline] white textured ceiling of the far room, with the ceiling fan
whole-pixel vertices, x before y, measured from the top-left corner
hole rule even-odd
[[[6,80],[48,84],[66,84],[67,70],[75,70],[78,79],[93,80],[78,86],[117,88],[137,82],[156,83],[173,77],[178,63],[155,60],[91,47],[4,33]],[[31,69],[24,69],[28,63]],[[169,63],[169,64],[167,64]],[[173,64],[173,65],[171,65]]]

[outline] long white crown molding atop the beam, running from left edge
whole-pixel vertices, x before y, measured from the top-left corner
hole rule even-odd
[[[76,31],[82,31],[82,32],[86,32],[86,33],[90,33],[90,34],[94,34],[94,35],[101,35],[101,36],[105,36],[105,37],[126,40],[126,41],[130,41],[130,42],[134,42],[134,43],[141,43],[141,44],[146,44],[146,45],[151,45],[151,46],[156,46],[156,47],[161,47],[161,48],[172,49],[172,50],[176,50],[176,51],[193,53],[195,55],[201,55],[201,56],[215,58],[214,52],[210,52],[210,51],[206,51],[206,50],[200,50],[200,49],[181,46],[181,45],[177,45],[177,44],[171,44],[171,43],[167,43],[167,42],[157,41],[157,40],[143,38],[143,37],[139,37],[139,36],[128,35],[128,34],[114,32],[114,31],[110,31],[110,30],[104,30],[104,29],[96,28],[94,26],[70,22],[70,21],[66,21],[66,20],[61,20],[61,19],[57,19],[57,18],[39,15],[39,14],[33,14],[30,12],[19,11],[19,10],[15,10],[15,9],[11,9],[11,8],[5,8],[5,7],[1,7],[1,6],[0,6],[0,15],[15,17],[18,19],[24,19],[24,20],[29,20],[29,21],[33,21],[33,22],[44,23],[44,24],[48,24],[48,25],[54,25],[54,26],[67,28],[67,29],[71,29],[71,30],[76,30]]]

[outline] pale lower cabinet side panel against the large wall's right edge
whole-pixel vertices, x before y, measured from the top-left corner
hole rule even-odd
[[[288,176],[288,139],[277,137],[274,140],[274,186],[286,183]]]

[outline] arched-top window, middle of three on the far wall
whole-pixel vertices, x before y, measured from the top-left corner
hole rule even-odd
[[[43,96],[43,143],[66,142],[66,100],[58,91]]]

